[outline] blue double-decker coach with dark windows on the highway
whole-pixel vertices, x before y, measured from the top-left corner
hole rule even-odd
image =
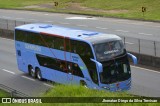
[[[110,91],[131,88],[131,68],[122,39],[113,34],[50,24],[25,24],[14,33],[20,71],[39,80]]]

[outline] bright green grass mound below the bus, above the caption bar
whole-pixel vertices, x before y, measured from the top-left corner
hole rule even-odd
[[[74,92],[73,92],[74,91]],[[133,97],[127,92],[106,92],[102,90],[88,89],[83,86],[56,85],[47,92],[45,97]]]

